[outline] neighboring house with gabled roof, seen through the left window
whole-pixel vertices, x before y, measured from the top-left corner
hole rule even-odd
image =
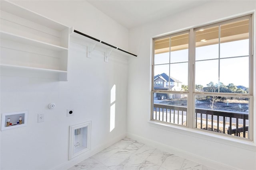
[[[155,90],[168,90],[170,88],[170,90],[172,90],[172,91],[181,91],[182,90],[181,84],[182,84],[182,82],[180,82],[176,78],[168,76],[166,73],[162,73],[162,74],[158,74],[158,75],[154,76],[154,89]],[[157,93],[157,94],[155,94],[154,97],[158,97],[158,96],[162,96],[162,95],[166,96],[166,94]],[[166,96],[166,97],[168,97],[168,96]],[[169,96],[169,97],[173,98],[171,96]]]

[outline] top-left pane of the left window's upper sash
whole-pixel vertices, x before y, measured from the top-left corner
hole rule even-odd
[[[154,64],[170,63],[170,38],[159,39],[154,41],[154,43]]]

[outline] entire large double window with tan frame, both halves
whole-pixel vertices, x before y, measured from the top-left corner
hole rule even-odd
[[[159,37],[153,45],[152,80],[162,78],[166,87],[152,82],[152,120],[252,139],[252,15]]]

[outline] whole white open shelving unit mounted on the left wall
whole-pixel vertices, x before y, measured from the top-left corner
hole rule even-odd
[[[67,81],[71,28],[6,0],[0,12],[1,75]]]

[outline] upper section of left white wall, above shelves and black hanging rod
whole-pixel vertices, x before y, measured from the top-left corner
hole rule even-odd
[[[77,31],[128,50],[128,29],[86,1],[14,0],[12,2],[64,25],[74,27]]]

